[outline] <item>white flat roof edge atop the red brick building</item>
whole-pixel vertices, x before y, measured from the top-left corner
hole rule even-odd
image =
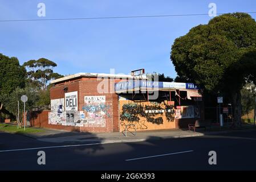
[[[64,76],[62,78],[58,78],[55,80],[52,80],[50,83],[51,84],[56,84],[58,82],[63,82],[67,80],[72,80],[74,78],[79,78],[79,77],[90,77],[90,78],[122,78],[122,79],[135,79],[135,80],[147,80],[146,75],[141,75],[139,76],[131,76],[131,75],[125,75],[125,74],[107,74],[107,73],[76,73],[74,75],[69,75],[69,76]]]

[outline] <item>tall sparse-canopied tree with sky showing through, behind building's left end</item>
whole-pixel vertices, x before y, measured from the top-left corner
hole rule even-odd
[[[46,90],[48,81],[63,77],[53,71],[53,68],[56,67],[57,64],[45,58],[29,60],[25,62],[23,66],[28,69],[28,82],[36,84],[42,90]]]

